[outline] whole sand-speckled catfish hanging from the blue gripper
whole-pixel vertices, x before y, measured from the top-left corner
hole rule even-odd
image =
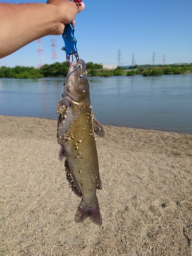
[[[96,190],[102,189],[96,147],[96,134],[104,137],[104,129],[94,117],[86,64],[72,61],[62,98],[57,102],[57,139],[59,160],[65,159],[67,180],[81,198],[75,214],[76,222],[90,220],[102,225]]]

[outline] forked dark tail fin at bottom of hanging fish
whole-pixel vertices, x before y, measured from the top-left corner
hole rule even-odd
[[[75,214],[75,221],[76,222],[83,222],[85,219],[90,217],[91,221],[98,225],[102,225],[102,218],[99,210],[99,203],[96,197],[95,200],[95,206],[94,207],[89,207],[88,204],[81,199],[80,205],[77,209],[77,212]]]

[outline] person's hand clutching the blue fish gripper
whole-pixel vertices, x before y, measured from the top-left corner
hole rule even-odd
[[[69,0],[48,0],[47,4],[54,5],[58,11],[58,21],[60,23],[59,30],[54,34],[60,35],[63,33],[65,24],[73,23],[75,26],[75,16],[77,13],[81,12],[84,9],[84,3],[82,2],[81,6],[78,6],[75,2]]]

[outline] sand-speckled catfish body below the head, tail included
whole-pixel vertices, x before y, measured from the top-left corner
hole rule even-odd
[[[63,122],[64,121],[64,122]],[[82,106],[60,117],[58,141],[62,146],[67,179],[74,193],[82,197],[75,221],[90,216],[92,222],[102,224],[96,189],[101,189],[97,148],[90,106]]]

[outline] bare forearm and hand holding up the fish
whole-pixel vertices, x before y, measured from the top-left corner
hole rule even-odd
[[[46,35],[60,35],[65,24],[84,9],[68,0],[48,0],[47,4],[0,3],[0,58]]]

